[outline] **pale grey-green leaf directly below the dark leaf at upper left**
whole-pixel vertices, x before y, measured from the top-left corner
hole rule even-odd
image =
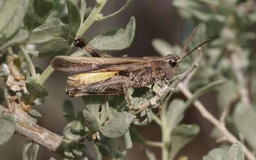
[[[49,17],[45,23],[35,28],[29,37],[29,44],[45,43],[48,40],[62,35],[61,21],[55,17]]]

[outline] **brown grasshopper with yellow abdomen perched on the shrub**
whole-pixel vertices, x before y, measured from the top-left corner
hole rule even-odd
[[[175,76],[183,60],[209,40],[199,44],[190,52],[185,52],[196,28],[190,34],[179,55],[169,54],[165,57],[112,57],[88,44],[83,38],[76,37],[74,45],[92,57],[56,56],[51,67],[62,72],[78,73],[69,76],[66,93],[68,96],[115,95],[125,94],[131,110],[131,101],[127,88],[138,88],[157,84],[164,88]],[[185,53],[185,56],[183,54]]]

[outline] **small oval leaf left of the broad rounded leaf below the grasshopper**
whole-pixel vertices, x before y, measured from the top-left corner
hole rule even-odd
[[[100,130],[100,125],[99,122],[97,120],[97,118],[89,111],[87,111],[86,109],[84,109],[83,111],[84,114],[84,124],[85,126],[93,132],[97,132]]]

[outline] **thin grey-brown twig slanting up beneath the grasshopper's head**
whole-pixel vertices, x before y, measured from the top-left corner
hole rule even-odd
[[[203,53],[204,48],[198,48],[199,53],[197,58],[194,60],[193,64],[189,67],[189,69],[187,69],[185,72],[183,72],[180,75],[176,76],[176,79],[173,81],[173,83],[171,85],[169,85],[167,88],[163,88],[162,90],[160,90],[156,96],[154,96],[151,100],[149,100],[147,103],[145,103],[143,106],[141,106],[138,111],[134,112],[134,115],[138,114],[139,112],[142,112],[143,110],[145,110],[147,107],[149,107],[150,105],[154,105],[156,104],[156,101],[159,100],[161,97],[163,97],[164,95],[166,95],[169,92],[173,92],[174,89],[176,88],[176,86],[182,81],[184,80],[187,76],[189,76],[189,74],[191,72],[193,72],[193,70],[199,65],[199,62],[201,60],[201,56]]]

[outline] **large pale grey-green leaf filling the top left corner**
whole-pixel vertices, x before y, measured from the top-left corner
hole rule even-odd
[[[0,34],[4,39],[12,36],[21,27],[29,0],[2,0],[0,10]],[[11,9],[10,9],[11,8]]]

